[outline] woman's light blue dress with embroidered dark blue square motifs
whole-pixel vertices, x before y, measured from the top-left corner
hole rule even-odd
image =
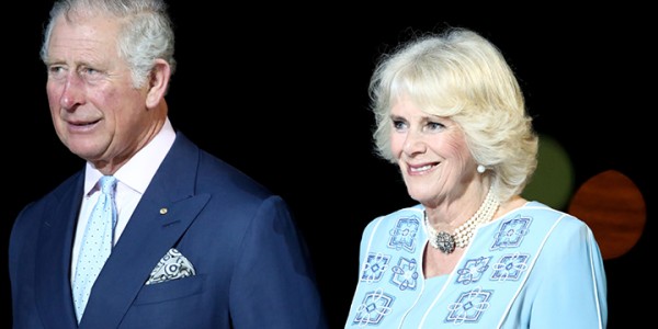
[[[452,273],[426,280],[422,218],[417,205],[366,226],[345,328],[605,328],[603,259],[582,220],[529,202],[480,226]]]

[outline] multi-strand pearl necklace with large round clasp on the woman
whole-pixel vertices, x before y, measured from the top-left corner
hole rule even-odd
[[[470,238],[473,238],[475,229],[481,224],[491,220],[491,218],[494,218],[494,214],[496,214],[496,211],[498,209],[499,203],[491,190],[492,189],[489,188],[489,192],[487,192],[487,197],[485,197],[485,201],[480,205],[479,209],[477,209],[477,212],[473,214],[473,217],[470,217],[470,219],[466,220],[464,224],[457,227],[455,229],[455,232],[452,235],[446,231],[436,232],[436,230],[434,229],[434,227],[432,227],[428,219],[428,213],[423,212],[423,227],[426,228],[426,232],[428,234],[430,245],[435,249],[441,250],[443,253],[453,252],[455,250],[455,247],[464,248],[468,246],[468,242],[470,242]]]

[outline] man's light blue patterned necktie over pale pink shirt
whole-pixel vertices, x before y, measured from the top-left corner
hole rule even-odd
[[[114,240],[114,227],[116,225],[116,205],[114,203],[114,190],[116,179],[104,175],[100,180],[101,195],[97,202],[84,229],[78,264],[76,265],[76,277],[73,279],[73,303],[76,304],[76,316],[78,322],[87,306],[87,299],[93,286],[93,282],[101,272]]]

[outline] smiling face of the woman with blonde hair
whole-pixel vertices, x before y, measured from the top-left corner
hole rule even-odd
[[[474,182],[477,167],[461,127],[404,97],[390,109],[390,148],[409,195],[426,205],[458,198]]]

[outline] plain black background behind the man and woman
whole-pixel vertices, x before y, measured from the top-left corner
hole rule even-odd
[[[8,12],[15,19],[2,23],[2,163],[10,197],[2,207],[2,263],[20,209],[83,166],[57,139],[47,109],[38,49],[52,1],[31,2],[15,4]],[[449,25],[470,27],[501,48],[535,127],[568,152],[576,186],[614,169],[643,193],[644,235],[626,254],[605,261],[609,328],[650,317],[649,303],[640,302],[655,292],[653,280],[645,283],[656,237],[648,179],[656,94],[649,49],[656,38],[644,16],[648,9],[197,3],[171,1],[179,61],[168,95],[173,126],[287,200],[332,328],[345,321],[362,229],[375,216],[413,204],[396,168],[373,155],[370,75],[377,56],[410,31]],[[2,279],[10,305],[7,270]],[[4,309],[9,326],[11,308]]]

